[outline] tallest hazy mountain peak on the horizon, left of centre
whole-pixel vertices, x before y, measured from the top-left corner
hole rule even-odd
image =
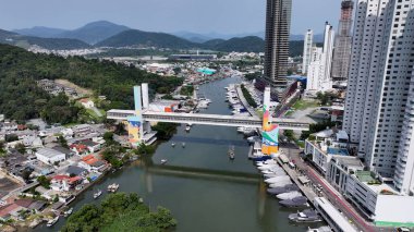
[[[95,45],[127,29],[130,28],[126,26],[118,25],[108,21],[97,21],[74,30],[63,32],[56,37],[73,38],[85,41],[89,45]]]

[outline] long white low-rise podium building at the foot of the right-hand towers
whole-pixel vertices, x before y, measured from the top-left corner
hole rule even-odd
[[[357,157],[332,157],[326,179],[376,225],[413,227],[414,197],[400,195],[392,181],[364,169]]]

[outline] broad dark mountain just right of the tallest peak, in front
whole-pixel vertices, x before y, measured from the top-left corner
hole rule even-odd
[[[158,47],[170,49],[197,48],[199,44],[166,33],[148,33],[130,29],[114,35],[96,45],[97,47]]]

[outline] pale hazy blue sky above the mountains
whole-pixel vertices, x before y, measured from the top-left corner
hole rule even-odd
[[[292,0],[291,34],[338,25],[341,0]],[[106,20],[148,32],[243,34],[265,28],[266,0],[2,0],[0,28],[74,29]]]

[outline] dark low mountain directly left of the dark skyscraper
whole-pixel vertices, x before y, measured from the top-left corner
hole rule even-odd
[[[219,41],[217,39],[205,42],[204,45],[211,46],[211,50],[217,51],[245,51],[245,52],[261,52],[265,49],[265,40],[257,36],[246,36],[243,38],[231,38],[229,40]]]

